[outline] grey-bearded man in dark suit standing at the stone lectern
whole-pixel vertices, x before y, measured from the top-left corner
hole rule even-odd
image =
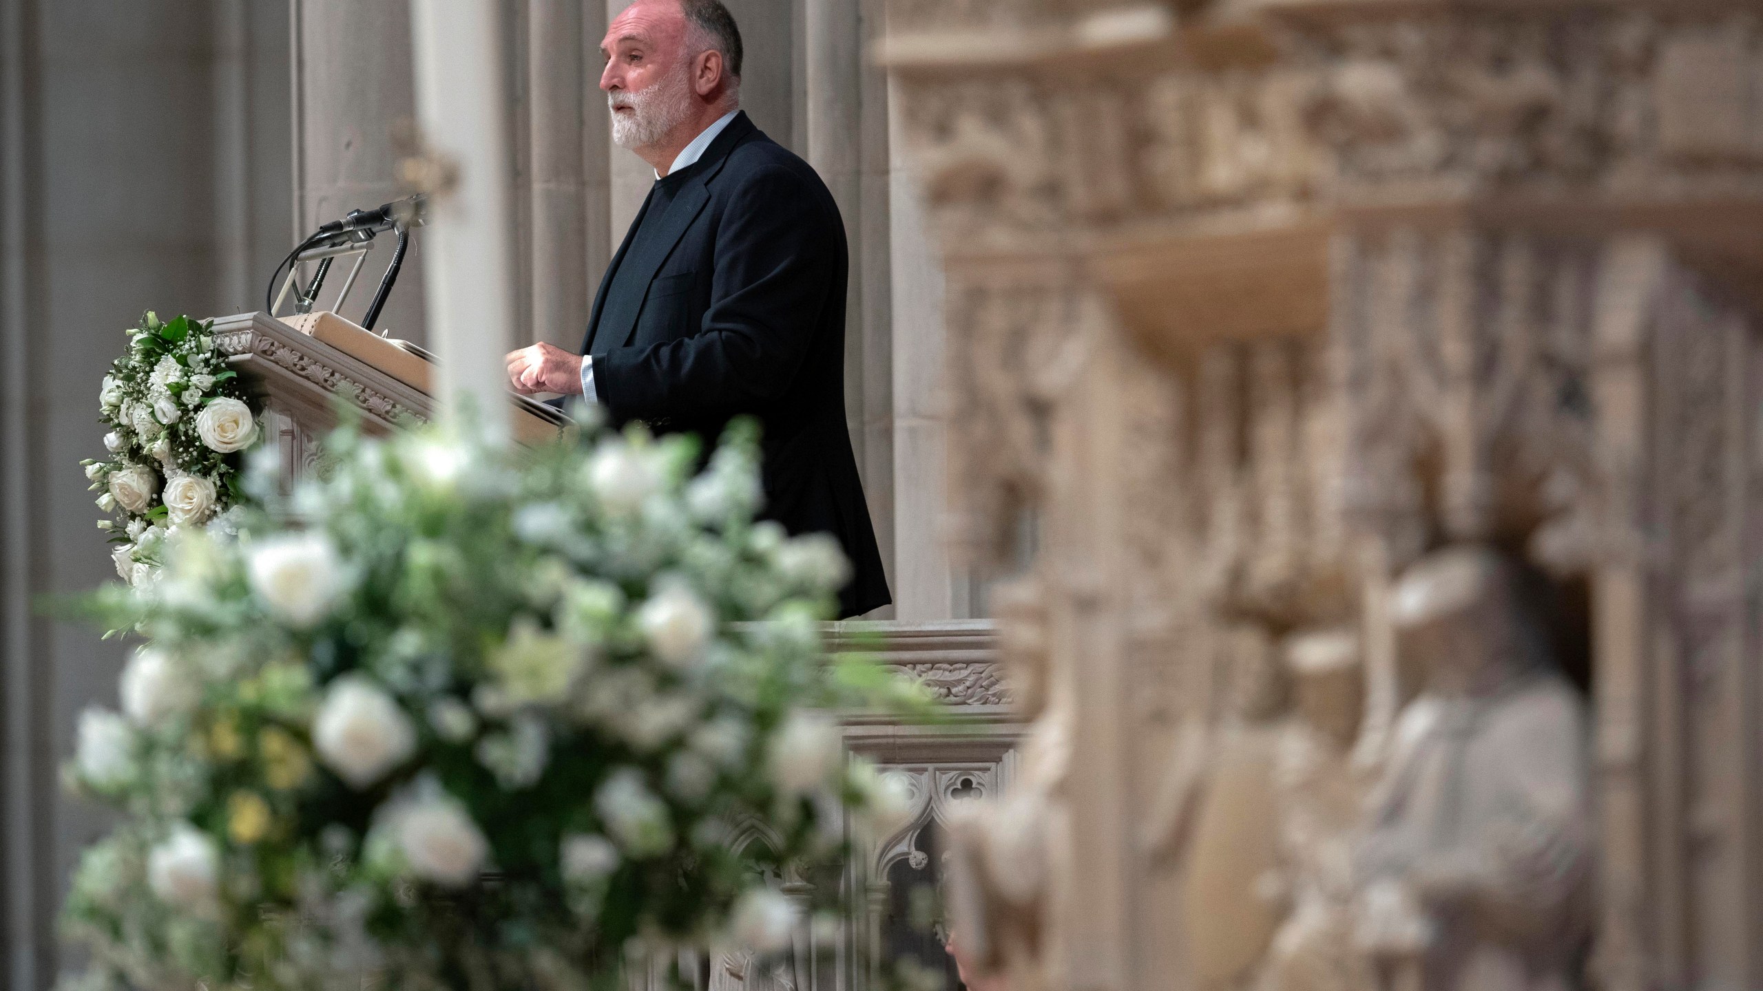
[[[582,354],[508,354],[524,393],[584,395],[614,423],[763,427],[765,515],[852,559],[843,615],[887,605],[844,427],[844,224],[802,159],[748,120],[721,0],[636,0],[599,44],[612,139],[656,182],[594,296]]]

